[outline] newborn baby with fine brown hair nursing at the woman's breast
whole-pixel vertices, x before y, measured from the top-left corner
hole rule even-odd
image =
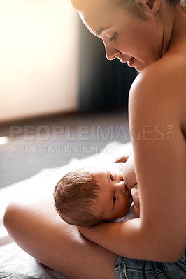
[[[71,225],[91,227],[129,213],[131,196],[139,217],[139,198],[132,156],[113,169],[84,167],[66,174],[55,186],[55,209]],[[124,181],[127,181],[127,186]]]

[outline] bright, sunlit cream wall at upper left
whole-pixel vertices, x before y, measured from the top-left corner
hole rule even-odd
[[[0,0],[0,38],[0,122],[77,110],[71,1]]]

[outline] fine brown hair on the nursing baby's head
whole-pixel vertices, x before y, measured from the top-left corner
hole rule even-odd
[[[75,169],[57,183],[54,190],[55,209],[71,225],[91,227],[101,223],[93,213],[99,186],[86,167]]]

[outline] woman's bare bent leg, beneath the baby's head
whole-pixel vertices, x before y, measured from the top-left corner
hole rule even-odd
[[[10,204],[4,225],[23,250],[66,278],[115,278],[117,255],[84,239],[76,227],[64,223],[51,197]]]

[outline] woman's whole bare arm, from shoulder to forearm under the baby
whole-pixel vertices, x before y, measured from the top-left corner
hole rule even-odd
[[[153,73],[138,77],[129,97],[141,218],[81,232],[125,257],[175,262],[185,250],[186,239],[185,139],[177,117],[181,104],[175,101],[170,76],[164,75],[161,82],[162,73]]]

